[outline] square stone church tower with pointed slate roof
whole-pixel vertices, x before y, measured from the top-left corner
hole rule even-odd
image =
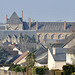
[[[14,12],[7,20],[5,30],[23,30],[23,19]]]

